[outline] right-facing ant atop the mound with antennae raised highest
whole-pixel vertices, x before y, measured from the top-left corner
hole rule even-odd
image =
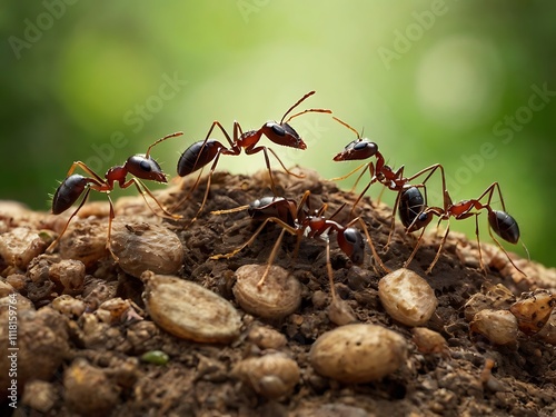
[[[277,195],[277,192],[276,192],[275,181],[272,179],[272,172],[270,170],[268,151],[270,151],[275,156],[275,158],[278,160],[278,162],[280,162],[281,167],[287,173],[297,178],[304,177],[302,175],[297,175],[289,171],[272,149],[267,148],[265,146],[257,146],[257,143],[261,139],[262,135],[265,135],[268,139],[270,139],[270,141],[277,145],[287,146],[290,148],[296,148],[301,150],[307,149],[307,145],[294,130],[294,128],[288,125],[288,122],[291,119],[305,115],[307,112],[331,113],[331,111],[328,109],[307,109],[290,116],[286,121],[284,121],[284,119],[286,119],[286,116],[288,116],[291,110],[294,110],[297,106],[299,106],[302,101],[305,101],[308,97],[312,96],[314,93],[315,91],[310,91],[306,93],[304,97],[301,97],[294,106],[291,106],[288,109],[288,111],[286,111],[279,123],[276,121],[267,121],[265,125],[262,125],[260,129],[249,130],[244,133],[241,127],[239,126],[239,122],[234,121],[234,140],[230,138],[230,136],[222,127],[222,125],[218,120],[215,120],[210,126],[210,129],[205,140],[195,142],[189,148],[187,148],[183,151],[183,153],[181,153],[181,157],[178,160],[178,175],[180,177],[185,177],[191,172],[195,172],[198,169],[203,168],[206,165],[208,165],[210,161],[214,160],[212,166],[210,167],[210,172],[208,175],[207,189],[205,191],[205,197],[202,198],[201,207],[197,211],[197,215],[195,215],[195,217],[191,219],[191,222],[197,219],[197,217],[202,211],[202,208],[205,207],[208,192],[210,189],[212,172],[215,171],[221,155],[238,156],[241,153],[241,149],[244,149],[247,155],[254,155],[262,151],[265,153],[267,170],[270,176],[270,188],[272,189],[272,192],[275,195]],[[209,139],[210,133],[212,133],[215,127],[218,127],[220,131],[224,133],[226,140],[228,141],[229,148],[227,148],[225,145],[222,145],[216,139]],[[177,205],[178,207],[181,206],[181,203],[191,196],[193,190],[199,185],[200,178],[201,173],[199,173],[199,177],[197,177],[197,180],[195,181],[195,185],[191,187],[189,193]]]

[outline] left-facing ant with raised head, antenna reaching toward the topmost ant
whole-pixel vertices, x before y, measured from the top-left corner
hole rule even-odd
[[[443,190],[446,190],[446,179],[445,179],[445,175],[444,175],[444,167],[440,163],[435,163],[428,168],[421,169],[420,171],[413,175],[411,177],[408,177],[408,178],[404,177],[404,166],[399,167],[397,171],[394,171],[394,169],[390,166],[386,165],[385,158],[378,151],[377,143],[371,142],[369,139],[361,138],[361,135],[356,129],[354,129],[351,126],[346,123],[345,121],[342,121],[334,116],[332,116],[332,118],[336,121],[338,121],[339,123],[344,125],[349,130],[354,131],[357,136],[356,140],[349,142],[344,148],[344,150],[341,152],[337,153],[334,157],[335,161],[363,160],[363,159],[368,159],[370,157],[376,157],[376,162],[375,162],[376,165],[373,163],[373,161],[370,161],[368,163],[360,165],[359,167],[357,167],[356,169],[354,169],[353,171],[348,172],[347,175],[345,175],[342,177],[331,179],[332,181],[346,179],[364,167],[366,167],[369,170],[370,181],[364,188],[364,190],[361,191],[359,197],[357,197],[357,200],[355,201],[354,207],[351,208],[350,216],[351,217],[354,216],[354,210],[357,207],[357,203],[361,200],[363,196],[365,196],[365,193],[367,192],[367,190],[369,189],[369,187],[373,183],[378,181],[381,185],[384,185],[386,188],[397,192],[396,201],[394,203],[393,216],[391,216],[390,234],[388,236],[388,242],[386,244],[386,248],[388,248],[388,246],[390,245],[393,232],[394,232],[394,226],[395,226],[395,221],[396,221],[396,209],[399,206],[400,196],[404,193],[404,191],[408,187],[410,187],[409,185],[414,179],[421,177],[423,175],[428,172],[427,176],[425,177],[425,179],[421,181],[421,183],[416,186],[416,187],[424,188],[425,183],[433,176],[433,173],[435,173],[435,171],[437,169],[440,170]],[[361,179],[365,171],[366,171],[366,169],[364,169],[361,171],[361,173],[359,173],[359,177],[357,177],[357,180],[354,185],[354,188],[357,186],[357,183]],[[406,226],[406,225],[404,225],[404,226]]]

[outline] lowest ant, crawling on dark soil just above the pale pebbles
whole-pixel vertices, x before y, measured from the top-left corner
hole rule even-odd
[[[296,203],[295,200],[285,199],[282,197],[265,197],[260,200],[256,200],[249,206],[241,206],[231,210],[212,211],[212,214],[215,215],[221,215],[239,211],[247,208],[251,218],[262,220],[262,224],[249,238],[249,240],[247,240],[239,248],[226,255],[211,256],[210,259],[231,258],[244,248],[251,245],[268,222],[279,225],[282,230],[278,239],[276,240],[272,251],[270,252],[267,268],[262,274],[259,282],[257,284],[257,287],[260,289],[260,287],[265,284],[267,275],[270,270],[270,266],[276,258],[276,255],[280,247],[280,242],[286,231],[290,235],[297,236],[294,258],[297,257],[299,244],[302,236],[307,236],[309,238],[321,238],[326,241],[326,265],[328,270],[328,278],[330,281],[330,292],[334,302],[336,300],[336,291],[334,287],[332,267],[330,262],[329,234],[331,231],[336,231],[339,248],[349,257],[351,261],[360,265],[363,264],[365,258],[365,239],[359,230],[351,227],[356,222],[359,222],[365,231],[365,236],[367,238],[367,241],[369,242],[374,258],[386,272],[390,272],[390,270],[383,264],[383,261],[378,257],[367,230],[367,226],[361,218],[357,217],[349,221],[346,226],[341,226],[340,224],[331,219],[344,208],[345,205],[340,206],[338,210],[336,210],[335,214],[327,219],[324,217],[324,212],[328,208],[328,205],[325,203],[319,210],[311,211],[308,201],[310,191],[306,191],[299,203]]]

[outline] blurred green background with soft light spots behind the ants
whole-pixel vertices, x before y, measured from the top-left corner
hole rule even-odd
[[[102,175],[183,130],[153,151],[173,175],[212,120],[255,129],[317,90],[300,109],[332,109],[407,175],[441,162],[454,200],[499,181],[532,258],[555,266],[555,22],[546,1],[12,1],[0,17],[0,198],[47,210],[73,160]],[[309,149],[272,146],[287,165],[325,178],[357,166],[331,161],[355,136],[327,115],[291,125]],[[260,155],[219,166],[261,168]]]

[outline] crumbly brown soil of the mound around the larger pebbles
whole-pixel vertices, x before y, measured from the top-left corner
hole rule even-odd
[[[320,207],[326,202],[329,205],[328,214],[347,202],[347,208],[335,218],[339,222],[346,221],[350,203],[356,198],[310,171],[306,171],[305,179],[276,172],[275,180],[279,192],[287,198],[298,200],[306,190],[310,190],[311,206]],[[190,186],[191,180],[177,182],[157,196],[171,207]],[[179,214],[185,219],[195,215],[203,192],[205,186],[201,185],[180,208]],[[554,270],[515,257],[516,264],[527,272],[525,278],[509,265],[499,249],[484,245],[484,261],[489,267],[489,272],[484,274],[478,268],[476,242],[450,232],[433,274],[425,276],[439,241],[433,235],[426,236],[409,268],[426,277],[435,290],[438,308],[426,327],[443,335],[448,348],[444,353],[423,354],[411,341],[411,329],[395,322],[385,312],[377,296],[378,281],[384,274],[377,274],[373,268],[370,252],[367,251],[368,260],[363,267],[353,266],[332,239],[331,264],[336,289],[353,308],[356,319],[395,330],[409,345],[407,360],[394,374],[368,384],[340,384],[319,376],[308,363],[309,349],[317,337],[337,327],[327,315],[329,286],[321,240],[305,238],[297,259],[291,259],[296,238],[285,237],[275,264],[287,268],[299,279],[302,302],[295,314],[281,320],[261,320],[242,312],[231,291],[234,272],[238,267],[267,262],[280,234],[278,226],[269,225],[250,247],[229,260],[208,259],[211,255],[227,254],[237,248],[256,230],[246,211],[221,216],[214,216],[210,211],[247,205],[264,197],[264,193],[270,193],[266,172],[249,178],[216,172],[202,215],[185,229],[180,221],[161,220],[153,216],[140,198],[122,198],[116,205],[117,217],[141,216],[147,221],[162,224],[173,230],[185,247],[183,265],[177,275],[219,294],[240,311],[242,332],[229,345],[192,342],[158,328],[143,310],[143,284],[125,274],[108,252],[101,254],[100,259],[95,256],[87,258],[85,285],[73,289],[64,289],[48,274],[47,278],[40,278],[40,266],[57,264],[60,260],[58,252],[29,260],[3,259],[0,265],[3,269],[2,281],[9,282],[22,296],[18,298],[18,342],[20,346],[27,344],[27,350],[34,353],[19,357],[17,415],[556,415],[555,347],[522,332],[515,342],[495,346],[481,336],[471,335],[464,315],[466,301],[480,292],[487,282],[503,284],[516,296],[535,288],[554,292]],[[359,205],[359,212],[369,227],[383,261],[391,269],[400,268],[413,250],[415,238],[406,236],[398,222],[389,251],[384,254],[381,248],[390,229],[391,208],[365,198]],[[75,232],[100,234],[100,237],[87,235],[85,241],[105,238],[107,214],[105,203],[87,205],[81,218],[72,222]],[[18,206],[3,205],[0,208],[2,232],[19,226],[29,227],[32,231],[52,228],[59,231],[66,219],[67,215],[33,214]],[[70,232],[64,239],[69,239]],[[481,237],[488,240],[486,230]],[[44,246],[41,251],[43,249]],[[52,309],[52,300],[61,292],[86,300],[88,310],[60,314]],[[6,294],[2,292],[2,296]],[[95,309],[115,297],[133,301],[137,317],[127,316],[126,320],[113,320],[109,325],[92,320]],[[32,306],[29,311],[22,311],[27,300]],[[287,345],[280,350],[294,358],[301,371],[294,391],[279,400],[266,399],[230,375],[240,359],[260,354],[260,348],[247,338],[249,330],[256,326],[281,332]],[[156,365],[139,359],[152,350],[165,351],[169,361]],[[3,385],[9,384],[3,363],[6,351],[7,348],[2,347],[2,393],[7,391]],[[485,368],[487,359],[495,363],[492,374],[488,366]],[[73,381],[82,383],[83,378],[90,383],[86,385],[91,387],[90,390],[72,389]],[[11,411],[8,403],[3,404],[3,410]]]

